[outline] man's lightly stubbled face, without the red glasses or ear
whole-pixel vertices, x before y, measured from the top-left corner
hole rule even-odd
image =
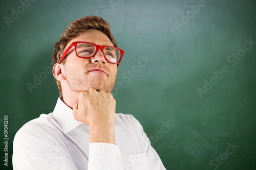
[[[72,39],[66,48],[73,41],[87,41],[97,45],[114,46],[105,34],[97,30],[87,30],[81,33]],[[92,87],[96,90],[111,92],[115,85],[117,64],[106,61],[100,50],[93,58],[83,59],[76,56],[74,49],[73,46],[64,64],[64,75],[71,90],[75,92],[87,91]]]

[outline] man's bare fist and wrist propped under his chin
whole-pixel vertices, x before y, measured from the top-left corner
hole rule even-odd
[[[110,92],[90,88],[78,95],[74,118],[90,126],[91,142],[115,143],[116,101]]]

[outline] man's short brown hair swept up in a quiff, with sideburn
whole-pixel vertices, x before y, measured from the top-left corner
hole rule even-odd
[[[117,47],[117,43],[111,33],[110,25],[108,22],[99,16],[85,16],[71,22],[70,27],[68,27],[68,29],[65,30],[63,34],[61,34],[59,41],[55,43],[54,52],[52,54],[52,67],[54,64],[59,62],[60,56],[63,54],[64,49],[69,41],[78,37],[82,32],[90,29],[102,32],[107,37],[109,37],[110,41],[114,44],[115,47]],[[66,60],[64,59],[61,62],[65,64],[65,61]],[[60,81],[57,81],[55,78],[54,81],[58,86],[59,95],[62,96]]]

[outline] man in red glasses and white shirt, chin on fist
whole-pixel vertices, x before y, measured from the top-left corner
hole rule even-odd
[[[60,97],[16,133],[14,169],[165,169],[138,120],[115,113],[122,55],[101,17],[71,23],[52,55]]]

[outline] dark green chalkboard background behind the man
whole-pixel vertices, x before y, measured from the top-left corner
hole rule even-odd
[[[51,65],[60,34],[86,15],[108,21],[125,51],[116,79],[123,85],[114,94],[116,111],[133,114],[147,136],[155,136],[152,144],[167,169],[256,169],[256,44],[236,64],[229,58],[243,52],[245,39],[256,42],[256,2],[205,1],[195,15],[189,6],[198,5],[197,0],[113,2],[36,0],[8,27],[4,17],[11,18],[11,9],[21,4],[1,1],[1,169],[12,169],[17,130],[51,112],[58,98],[51,74],[32,91],[27,83],[33,84],[34,75],[44,76],[42,66]],[[177,29],[175,23],[182,21]],[[141,57],[151,60],[139,67]],[[228,71],[214,78],[212,71],[223,65]],[[133,77],[127,78],[129,70]],[[204,88],[205,80],[214,85],[200,96],[197,89]],[[8,167],[3,162],[4,115]],[[168,132],[161,131],[163,122],[172,124]],[[239,148],[227,155],[227,143]]]

